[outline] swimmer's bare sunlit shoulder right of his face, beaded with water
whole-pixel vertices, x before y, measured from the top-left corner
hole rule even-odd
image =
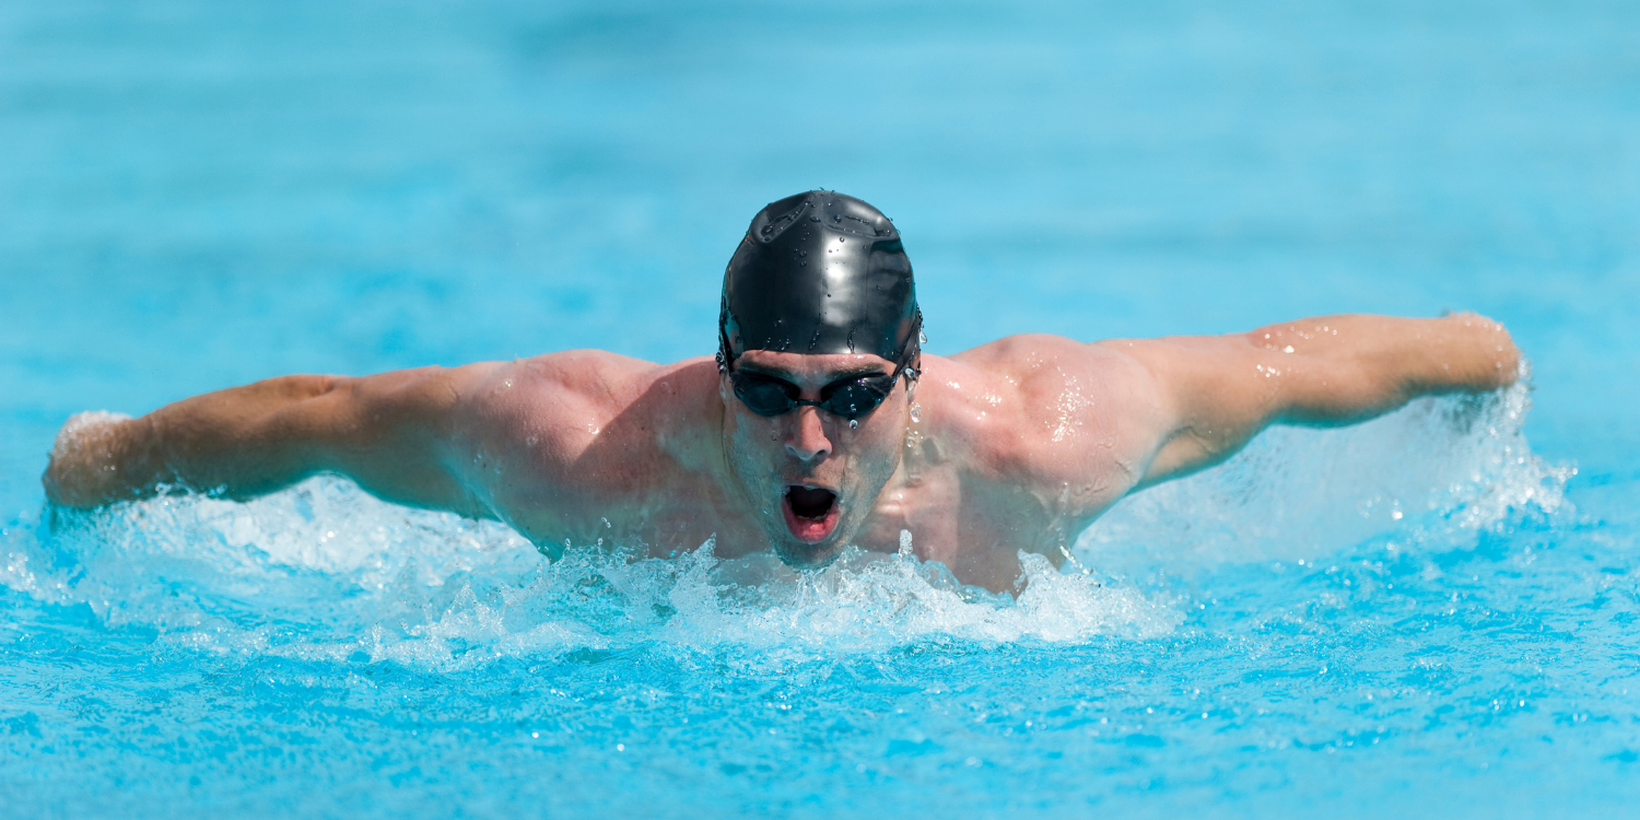
[[[935,359],[925,380],[945,435],[997,479],[1120,497],[1151,456],[1161,394],[1120,341],[1007,336]]]

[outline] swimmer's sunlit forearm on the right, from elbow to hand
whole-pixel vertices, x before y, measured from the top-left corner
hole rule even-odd
[[[1494,390],[1519,372],[1509,331],[1474,313],[1322,317],[1246,336],[1261,351],[1261,372],[1279,384],[1271,421],[1358,421],[1420,395]]]

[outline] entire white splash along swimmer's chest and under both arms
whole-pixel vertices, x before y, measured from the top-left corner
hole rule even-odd
[[[430,667],[638,643],[784,663],[946,638],[1140,640],[1182,620],[1128,581],[1145,569],[1325,554],[1384,531],[1473,540],[1522,510],[1555,513],[1569,469],[1532,456],[1527,405],[1519,385],[1348,430],[1273,430],[1084,533],[1076,556],[1100,574],[1022,556],[1018,600],[909,551],[850,549],[818,572],[718,559],[710,543],[667,561],[574,548],[548,563],[499,523],[395,507],[335,477],[249,503],[59,512],[52,536],[8,535],[0,582],[177,648]]]

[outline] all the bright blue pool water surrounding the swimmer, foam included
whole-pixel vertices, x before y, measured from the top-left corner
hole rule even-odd
[[[3,3],[0,807],[1622,813],[1637,44],[1622,2]],[[1274,430],[1020,600],[546,564],[338,479],[44,508],[80,410],[708,353],[817,185],[895,218],[935,353],[1466,308],[1530,389]]]

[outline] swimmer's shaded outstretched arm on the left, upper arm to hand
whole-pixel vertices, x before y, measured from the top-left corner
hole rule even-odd
[[[249,499],[336,472],[385,500],[492,517],[444,449],[462,390],[495,367],[285,376],[141,418],[71,421],[43,477],[46,497],[79,508],[167,487]]]

